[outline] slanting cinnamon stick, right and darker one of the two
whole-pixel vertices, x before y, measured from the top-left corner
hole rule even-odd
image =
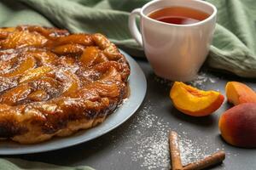
[[[207,156],[206,158],[195,161],[194,163],[189,163],[185,167],[183,167],[183,170],[200,170],[207,167],[211,167],[212,165],[218,164],[225,159],[225,153],[224,151],[218,151],[211,156]]]

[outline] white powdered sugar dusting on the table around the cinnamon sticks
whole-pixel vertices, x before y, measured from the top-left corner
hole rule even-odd
[[[125,141],[125,151],[119,154],[131,154],[131,161],[140,162],[140,169],[167,170],[171,167],[168,134],[170,130],[177,132],[177,129],[171,129],[169,122],[155,114],[154,105],[156,104],[148,101],[147,106],[137,112],[137,116],[122,136]],[[197,147],[200,144],[189,139],[186,132],[178,133],[178,135],[183,165],[206,156],[206,148]]]

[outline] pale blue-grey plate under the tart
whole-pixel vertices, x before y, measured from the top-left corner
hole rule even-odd
[[[125,54],[125,52],[121,52],[122,54]],[[129,99],[127,99],[117,111],[108,116],[106,121],[96,127],[75,133],[72,136],[66,138],[54,138],[39,144],[17,144],[11,141],[2,141],[0,142],[0,155],[38,153],[66,148],[75,144],[81,144],[91,139],[96,139],[125,122],[142,104],[147,90],[147,81],[142,69],[130,55],[125,54],[125,57],[131,66],[131,75],[129,77],[131,94]]]

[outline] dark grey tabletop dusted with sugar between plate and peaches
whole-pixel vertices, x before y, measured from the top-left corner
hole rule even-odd
[[[256,150],[226,144],[218,131],[218,117],[230,107],[226,102],[211,116],[191,117],[177,111],[169,99],[171,82],[156,77],[148,62],[137,59],[148,81],[143,105],[127,122],[112,132],[90,142],[45,153],[10,156],[65,166],[88,165],[99,170],[168,169],[170,167],[167,133],[180,134],[183,162],[195,161],[217,150],[225,150],[224,163],[212,169],[256,169]],[[202,89],[224,94],[228,81],[255,81],[203,70],[193,82]],[[131,80],[132,81],[132,80]],[[132,90],[132,89],[131,89]]]

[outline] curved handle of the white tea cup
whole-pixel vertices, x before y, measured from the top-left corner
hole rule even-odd
[[[138,42],[140,46],[143,47],[143,38],[142,34],[137,28],[136,24],[136,16],[141,16],[141,8],[136,8],[133,11],[131,11],[131,14],[129,15],[129,29],[131,31],[131,36],[135,38],[135,40]]]

